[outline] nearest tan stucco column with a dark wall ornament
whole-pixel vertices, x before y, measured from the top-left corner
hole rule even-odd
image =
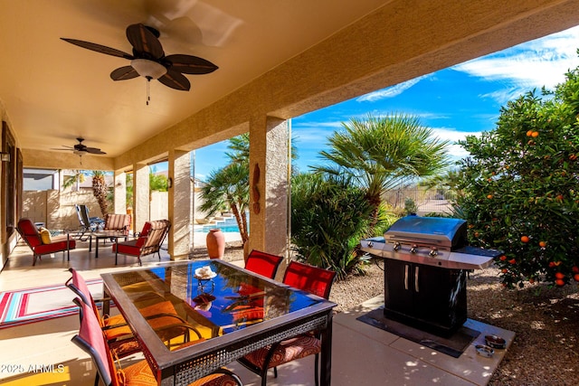
[[[289,220],[289,122],[260,117],[250,121],[250,245],[287,256]],[[257,181],[259,167],[259,181]],[[255,190],[257,189],[257,191]],[[257,193],[257,194],[256,194]],[[259,200],[257,195],[259,194]],[[259,213],[255,207],[259,206]]]

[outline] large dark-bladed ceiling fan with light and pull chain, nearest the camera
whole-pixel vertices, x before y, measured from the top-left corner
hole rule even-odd
[[[78,45],[87,50],[118,56],[130,61],[129,66],[119,67],[110,73],[112,80],[129,80],[142,76],[148,81],[156,79],[172,89],[188,91],[191,83],[185,74],[208,74],[218,69],[211,61],[193,55],[165,55],[158,37],[157,29],[144,24],[131,24],[127,27],[127,39],[133,46],[133,53],[122,52],[94,42],[61,38],[65,42]],[[148,84],[148,82],[147,82]]]

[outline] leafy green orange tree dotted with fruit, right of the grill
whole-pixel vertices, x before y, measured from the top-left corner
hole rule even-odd
[[[579,69],[579,68],[578,68]],[[501,108],[497,126],[460,143],[457,205],[473,245],[501,249],[506,287],[579,281],[579,70],[554,91]]]

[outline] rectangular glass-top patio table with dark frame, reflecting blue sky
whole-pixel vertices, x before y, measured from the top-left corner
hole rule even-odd
[[[214,274],[200,277],[200,268],[211,268]],[[321,384],[330,384],[332,308],[336,304],[322,297],[220,259],[101,276],[106,296],[125,316],[158,384],[188,384],[263,346],[312,330],[321,332]],[[166,330],[154,329],[149,325],[154,319],[139,312],[166,300],[195,328],[192,344],[167,347]]]

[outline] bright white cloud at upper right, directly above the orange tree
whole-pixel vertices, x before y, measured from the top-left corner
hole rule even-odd
[[[577,42],[579,27],[574,27],[458,64],[452,69],[486,80],[506,81],[509,89],[553,88],[565,80],[566,71],[579,64],[575,53]]]

